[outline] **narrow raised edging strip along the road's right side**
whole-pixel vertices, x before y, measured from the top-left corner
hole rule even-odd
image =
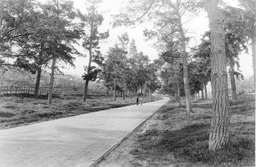
[[[168,103],[171,99],[166,102]],[[164,103],[162,106],[164,106],[166,103]],[[117,146],[123,142],[126,138],[128,138],[134,131],[136,131],[142,124],[144,124],[148,119],[150,119],[162,106],[160,106],[152,115],[150,115],[146,120],[144,120],[142,123],[140,123],[136,128],[134,128],[130,133],[128,133],[126,136],[124,136],[120,141],[117,142],[111,149],[106,151],[101,157],[99,157],[93,164],[91,164],[89,167],[95,167],[100,161],[102,161],[107,155],[109,155],[110,152],[112,152]]]

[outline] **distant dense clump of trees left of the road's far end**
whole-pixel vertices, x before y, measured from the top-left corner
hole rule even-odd
[[[116,100],[116,91],[122,91],[123,98],[125,92],[129,92],[130,99],[132,94],[137,96],[139,88],[144,94],[147,90],[153,93],[160,88],[160,82],[157,80],[156,64],[150,63],[147,55],[137,52],[135,40],[132,39],[129,45],[129,36],[127,33],[118,36],[118,42],[110,47],[106,54],[106,59],[102,62],[102,73],[100,79],[104,80],[104,85],[110,90],[114,89],[114,99]]]

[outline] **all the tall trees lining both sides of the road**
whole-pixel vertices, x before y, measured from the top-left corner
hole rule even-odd
[[[219,8],[218,0],[129,1],[122,12],[114,16],[114,27],[134,26],[151,20],[154,28],[146,29],[144,36],[157,39],[156,47],[162,52],[154,63],[150,63],[142,52],[137,52],[134,40],[130,42],[129,49],[126,47],[129,43],[127,34],[118,37],[118,42],[110,47],[104,58],[98,45],[99,41],[108,38],[109,32],[98,32],[103,21],[97,11],[101,1],[86,2],[86,11],[80,12],[69,0],[50,0],[46,4],[32,0],[3,0],[0,3],[1,58],[12,57],[15,62],[8,64],[1,59],[1,66],[19,66],[36,73],[36,90],[39,89],[42,68],[50,68],[49,104],[52,103],[54,75],[61,74],[61,63],[74,65],[75,55],[85,56],[74,47],[80,39],[89,53],[89,64],[82,76],[86,80],[84,102],[89,81],[95,81],[98,74],[108,90],[121,90],[123,94],[130,92],[131,97],[132,92],[136,95],[143,85],[144,92],[159,88],[156,73],[159,67],[163,67],[160,76],[168,85],[166,91],[173,91],[180,105],[180,96],[184,94],[186,110],[193,112],[191,94],[206,90],[207,82],[211,81],[214,115],[209,150],[227,144],[229,101],[226,67],[229,66],[231,87],[236,92],[233,77],[241,74],[234,69],[239,67],[238,54],[247,50],[248,42],[252,48],[255,87],[255,5],[251,5],[255,2],[240,0],[242,7],[238,9]],[[184,19],[190,19],[202,9],[208,13],[210,32],[205,33],[202,43],[188,54],[190,38],[184,29],[187,22]],[[93,66],[92,62],[99,67]],[[35,92],[37,96],[38,91]]]

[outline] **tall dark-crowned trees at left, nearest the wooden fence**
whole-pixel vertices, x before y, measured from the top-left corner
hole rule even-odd
[[[85,12],[73,8],[72,1],[51,0],[46,4],[28,0],[1,1],[0,4],[0,48],[1,67],[17,66],[37,74],[35,97],[38,97],[42,69],[50,69],[48,104],[52,103],[54,75],[62,75],[63,64],[74,66],[79,53],[74,47],[82,40],[82,46],[89,51],[89,65],[83,101],[86,101],[89,80],[93,80],[91,61],[100,57],[99,40],[108,38],[109,32],[99,33],[103,17],[96,8],[101,1],[88,0]],[[14,58],[14,63],[6,62]]]

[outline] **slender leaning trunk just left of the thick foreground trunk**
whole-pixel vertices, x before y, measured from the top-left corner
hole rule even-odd
[[[176,13],[178,16],[179,34],[181,39],[181,54],[182,54],[182,60],[183,60],[183,80],[184,80],[184,90],[185,90],[185,98],[186,98],[186,110],[187,112],[192,112],[190,88],[188,83],[186,43],[185,43],[185,36],[182,28],[181,15],[180,15],[180,10],[178,5],[179,0],[176,0],[176,4],[177,4]]]

